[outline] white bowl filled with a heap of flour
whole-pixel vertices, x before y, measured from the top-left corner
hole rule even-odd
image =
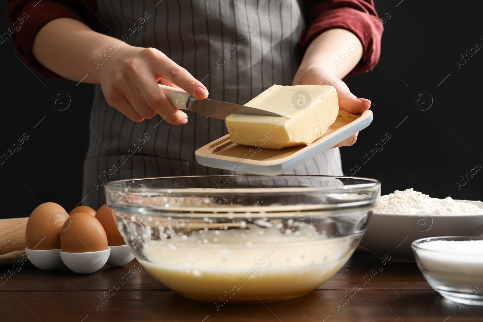
[[[412,188],[381,196],[360,246],[377,258],[415,263],[411,243],[420,238],[479,235],[483,202],[432,198]]]

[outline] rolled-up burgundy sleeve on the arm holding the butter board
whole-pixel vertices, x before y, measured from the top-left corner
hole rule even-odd
[[[383,23],[377,16],[373,0],[305,0],[307,27],[299,44],[302,55],[322,32],[341,28],[354,33],[362,43],[361,61],[347,75],[372,70],[381,55]]]

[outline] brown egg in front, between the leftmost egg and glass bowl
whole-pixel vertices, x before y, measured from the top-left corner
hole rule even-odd
[[[92,215],[74,213],[64,224],[60,233],[62,252],[99,252],[107,249],[104,228]]]

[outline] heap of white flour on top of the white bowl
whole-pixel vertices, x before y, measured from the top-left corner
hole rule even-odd
[[[483,213],[483,209],[468,202],[457,202],[451,197],[444,199],[431,198],[428,195],[424,195],[410,188],[404,191],[396,190],[394,194],[381,196],[379,205],[374,208],[374,212],[409,215],[414,215],[419,212],[462,215]]]

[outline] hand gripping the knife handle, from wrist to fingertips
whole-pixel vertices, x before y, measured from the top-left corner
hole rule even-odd
[[[123,43],[98,70],[107,103],[136,122],[156,113],[173,125],[188,122],[186,113],[171,104],[158,83],[181,88],[197,99],[208,96],[203,84],[155,48]]]

